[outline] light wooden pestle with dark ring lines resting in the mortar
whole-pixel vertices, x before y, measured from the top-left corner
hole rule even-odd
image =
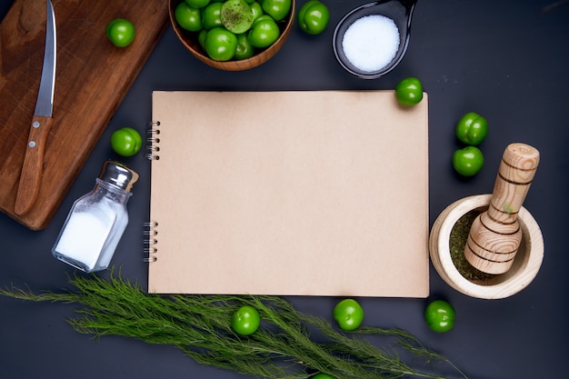
[[[535,170],[539,151],[515,143],[504,151],[488,210],[478,215],[470,228],[464,256],[486,274],[504,274],[514,263],[522,241],[517,214],[524,203]]]

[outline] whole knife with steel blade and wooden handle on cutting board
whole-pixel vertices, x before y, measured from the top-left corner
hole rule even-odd
[[[22,165],[22,173],[20,174],[20,182],[15,197],[14,212],[18,215],[27,213],[32,205],[35,204],[41,185],[45,142],[54,121],[52,113],[54,107],[56,45],[54,6],[50,0],[47,0],[44,65],[26,145],[24,164]]]

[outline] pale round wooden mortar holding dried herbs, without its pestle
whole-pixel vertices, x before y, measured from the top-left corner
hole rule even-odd
[[[484,280],[469,280],[460,273],[450,253],[451,231],[464,214],[488,209],[491,197],[478,194],[450,204],[435,220],[429,237],[431,261],[437,273],[456,291],[481,299],[501,299],[522,291],[534,280],[544,259],[542,232],[532,214],[522,207],[517,220],[523,237],[512,267]]]

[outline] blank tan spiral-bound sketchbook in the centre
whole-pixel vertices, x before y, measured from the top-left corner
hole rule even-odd
[[[153,94],[148,291],[426,297],[427,96]]]

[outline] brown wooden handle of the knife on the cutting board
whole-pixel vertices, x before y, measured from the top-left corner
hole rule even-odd
[[[15,196],[14,212],[27,213],[35,203],[44,171],[45,142],[54,119],[35,115],[25,149],[20,184]]]

